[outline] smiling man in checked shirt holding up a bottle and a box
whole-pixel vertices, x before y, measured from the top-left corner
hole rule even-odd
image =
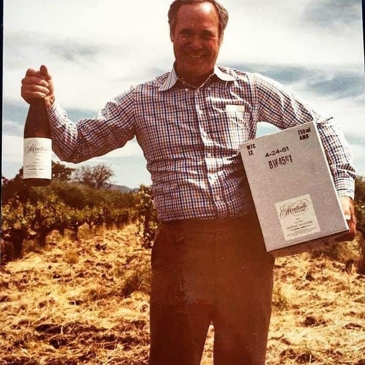
[[[283,85],[216,66],[228,20],[220,4],[176,0],[168,18],[172,71],[117,96],[95,118],[67,119],[44,66],[27,71],[22,96],[45,99],[62,160],[87,160],[134,136],[143,149],[162,222],[152,250],[149,363],[199,364],[212,322],[214,364],[264,364],[274,260],[264,248],[238,146],[254,137],[257,121],[280,128],[315,121],[354,234],[349,149],[332,118]],[[232,105],[239,108],[232,112]]]

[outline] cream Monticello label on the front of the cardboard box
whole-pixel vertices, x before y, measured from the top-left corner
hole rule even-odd
[[[320,231],[309,194],[275,204],[286,241]]]

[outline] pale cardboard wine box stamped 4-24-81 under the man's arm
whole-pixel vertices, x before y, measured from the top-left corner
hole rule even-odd
[[[274,256],[328,246],[349,231],[315,123],[247,141],[240,151]]]

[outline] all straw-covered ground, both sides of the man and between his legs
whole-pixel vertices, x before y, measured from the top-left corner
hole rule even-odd
[[[3,266],[0,364],[146,364],[151,274],[135,232],[83,229],[77,242],[54,233]],[[202,365],[213,363],[213,333]],[[267,364],[298,363],[365,365],[365,276],[351,265],[276,260]]]

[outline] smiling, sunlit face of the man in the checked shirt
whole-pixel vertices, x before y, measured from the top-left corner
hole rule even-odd
[[[199,86],[212,73],[221,46],[216,8],[209,2],[182,5],[170,37],[179,76]]]

